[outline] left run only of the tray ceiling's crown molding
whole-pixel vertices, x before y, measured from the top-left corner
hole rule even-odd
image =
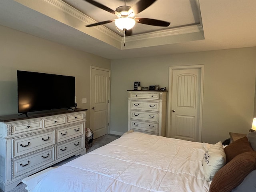
[[[32,10],[40,12],[67,26],[75,28],[111,46],[120,49],[122,37],[105,26],[86,28],[85,25],[96,22],[62,0],[14,0]]]

